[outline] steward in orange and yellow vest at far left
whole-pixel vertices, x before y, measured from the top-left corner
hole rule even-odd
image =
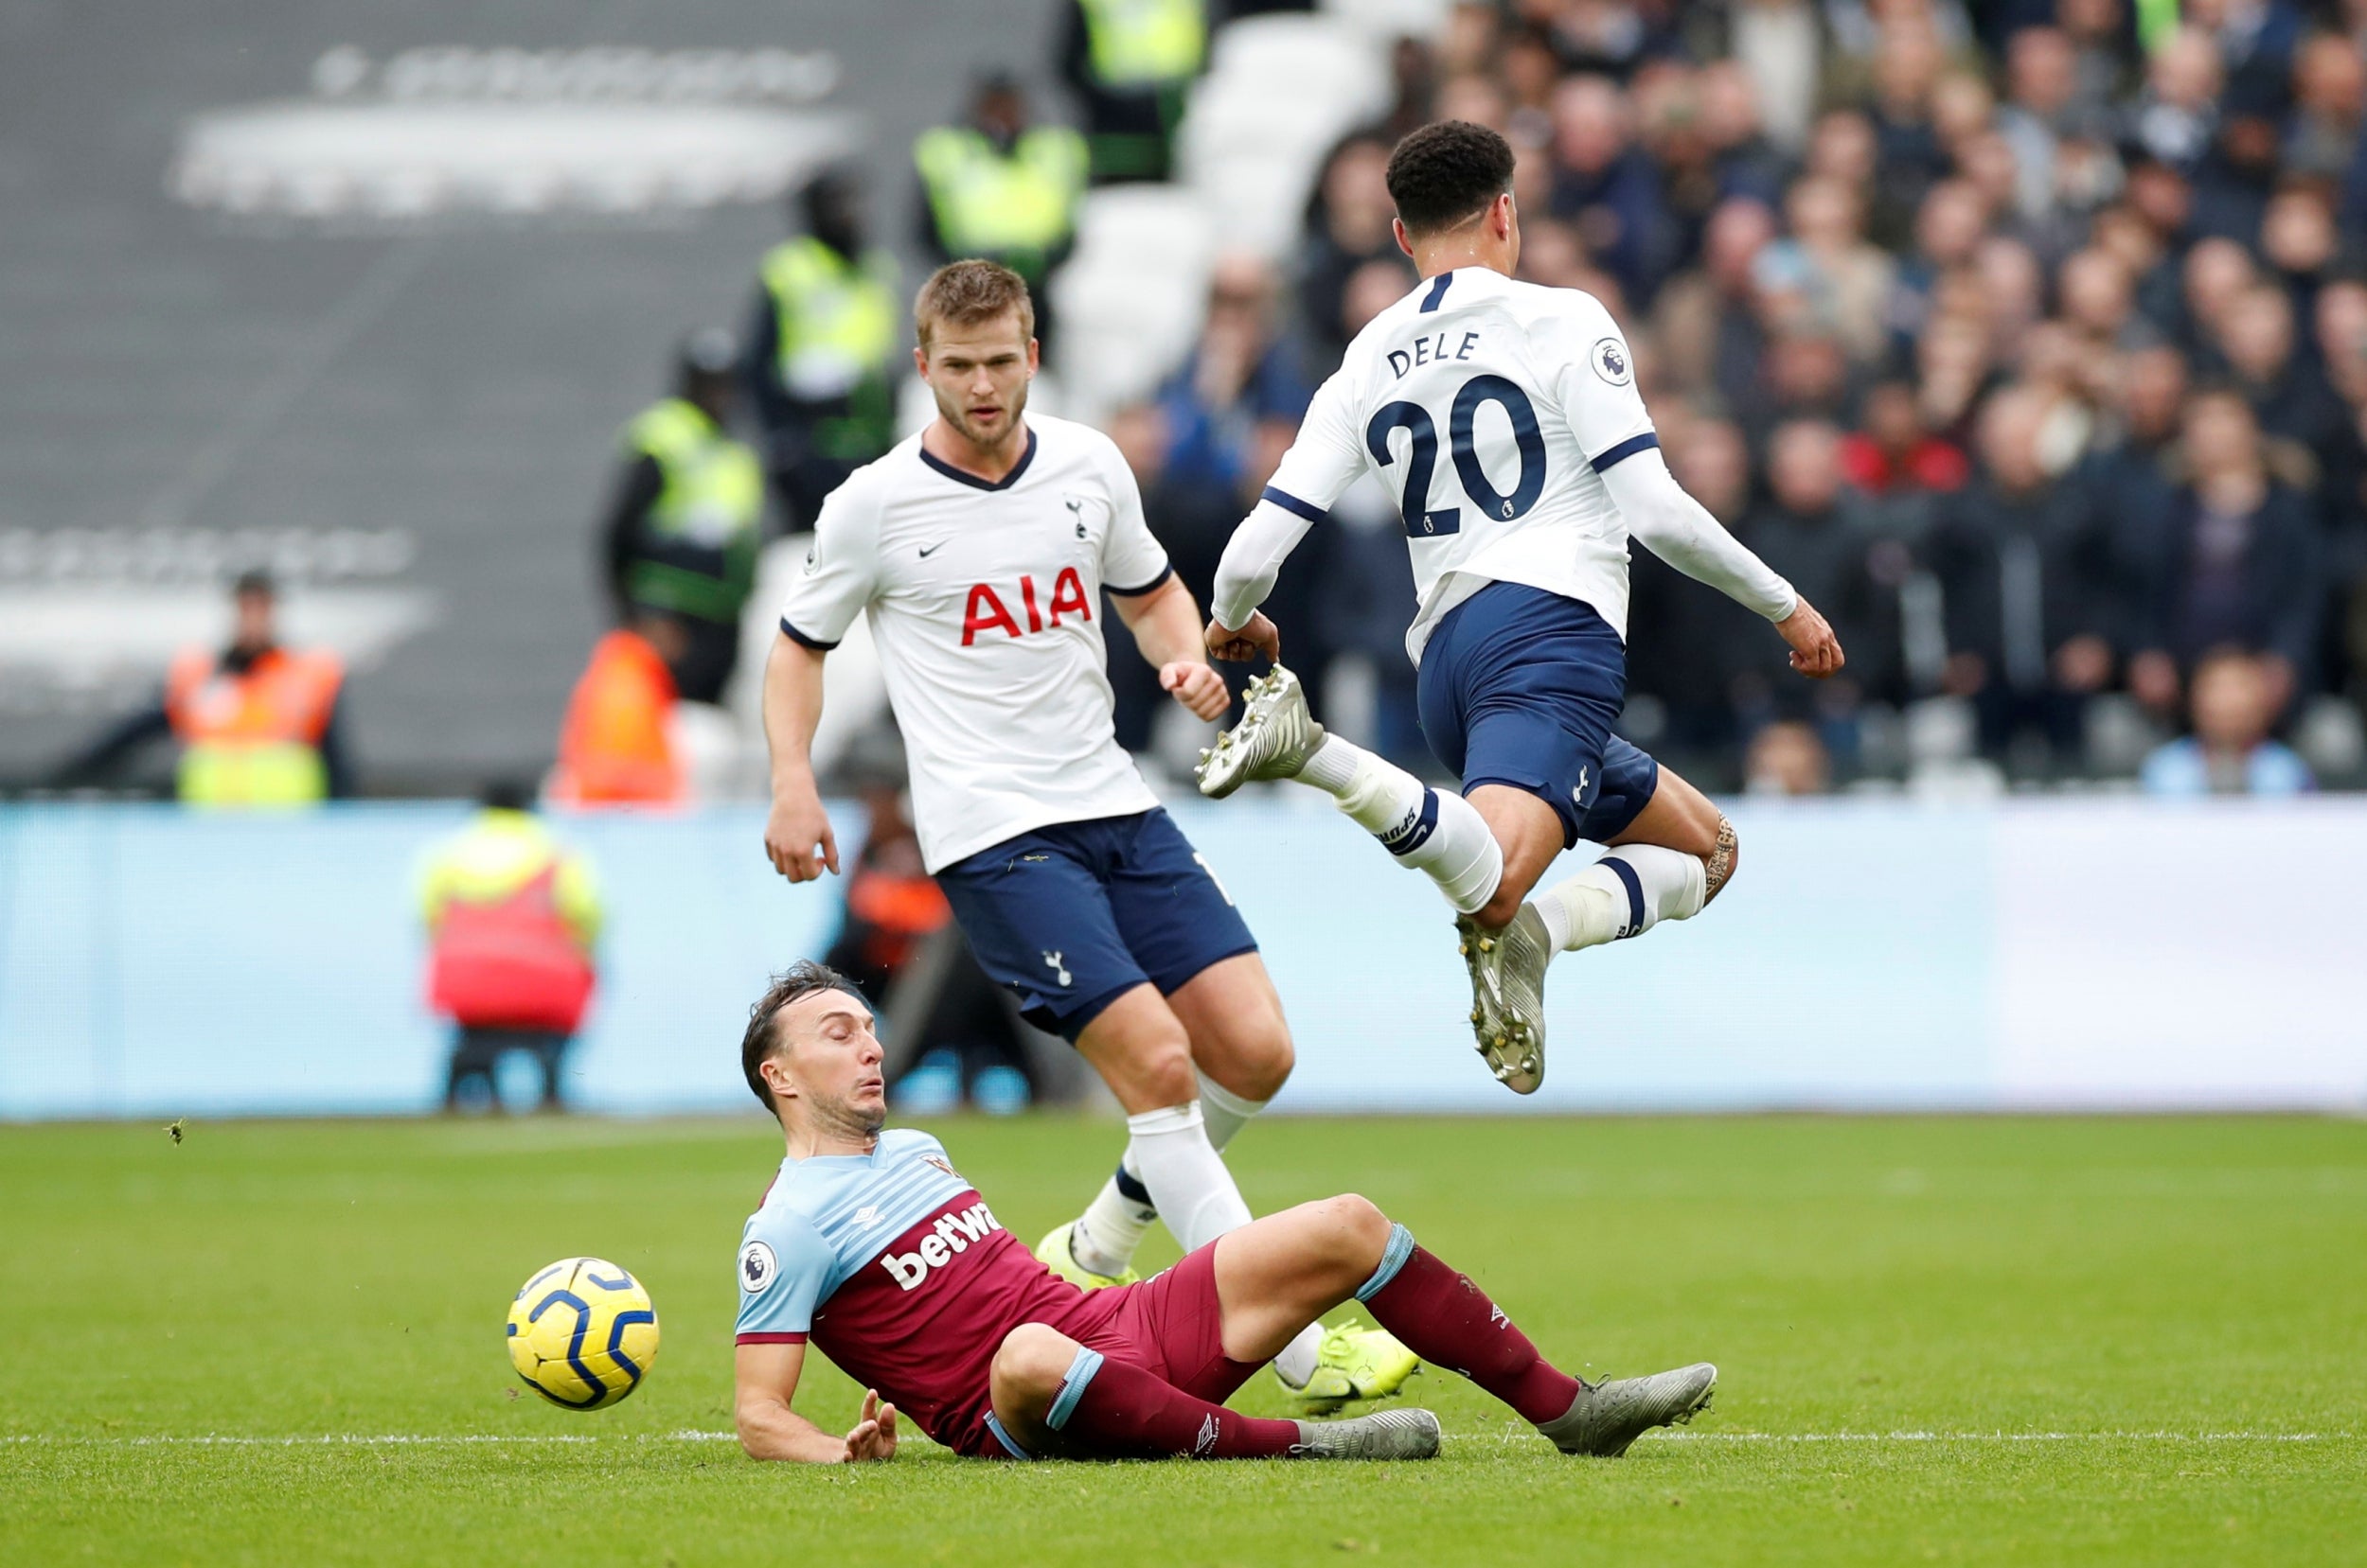
[[[180,743],[175,795],[187,806],[289,809],[350,792],[338,698],[346,665],[327,648],[282,648],[267,572],[232,584],[227,648],[182,648],[163,693],[50,778],[78,788],[116,778],[149,743]]]

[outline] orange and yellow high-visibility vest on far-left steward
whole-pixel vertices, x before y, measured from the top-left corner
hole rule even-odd
[[[211,648],[185,648],[166,674],[163,712],[180,738],[189,806],[308,806],[329,797],[320,738],[346,667],[334,653],[270,648],[244,674]]]

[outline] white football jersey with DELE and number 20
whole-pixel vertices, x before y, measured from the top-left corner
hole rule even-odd
[[[1413,551],[1415,662],[1489,582],[1579,598],[1626,636],[1626,523],[1600,473],[1657,445],[1595,296],[1458,267],[1356,333],[1264,499],[1316,520],[1380,475]]]

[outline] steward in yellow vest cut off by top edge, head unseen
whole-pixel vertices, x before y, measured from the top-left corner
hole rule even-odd
[[[1070,0],[1060,80],[1084,106],[1094,184],[1167,180],[1174,130],[1205,64],[1205,0]]]

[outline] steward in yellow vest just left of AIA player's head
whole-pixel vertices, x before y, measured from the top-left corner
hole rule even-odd
[[[854,177],[814,177],[798,218],[805,232],[765,253],[741,341],[741,385],[793,532],[814,527],[824,497],[895,445],[904,324],[895,258],[866,244]]]

